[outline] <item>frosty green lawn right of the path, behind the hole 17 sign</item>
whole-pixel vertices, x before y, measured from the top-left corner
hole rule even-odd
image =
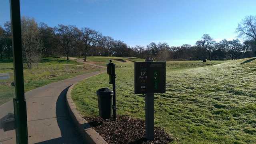
[[[144,95],[134,94],[134,64],[117,65],[118,115],[144,119]],[[155,94],[154,121],[179,139],[174,143],[256,143],[255,58],[166,66],[166,93]],[[96,90],[104,87],[111,88],[106,73],[74,86],[72,99],[84,116],[98,116]]]

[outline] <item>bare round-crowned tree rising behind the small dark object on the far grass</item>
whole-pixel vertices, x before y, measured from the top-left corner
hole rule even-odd
[[[210,60],[211,60],[212,51],[214,49],[213,44],[214,44],[214,41],[213,41],[212,37],[210,37],[210,35],[208,35],[208,34],[204,34],[202,36],[202,40],[196,42],[196,45],[198,47],[201,47],[203,50],[205,50],[208,53]],[[204,56],[204,58],[205,57],[206,56]]]

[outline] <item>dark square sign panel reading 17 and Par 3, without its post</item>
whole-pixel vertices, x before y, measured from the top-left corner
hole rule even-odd
[[[165,93],[166,62],[134,63],[135,94]]]

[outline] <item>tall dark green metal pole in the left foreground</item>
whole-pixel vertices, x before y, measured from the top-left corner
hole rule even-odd
[[[16,143],[28,144],[27,111],[24,95],[24,78],[22,62],[20,0],[10,0],[12,24],[12,49],[14,60],[15,94],[14,115],[16,123]]]

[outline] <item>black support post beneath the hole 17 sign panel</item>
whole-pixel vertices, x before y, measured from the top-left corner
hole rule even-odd
[[[154,93],[146,93],[146,139],[154,140]]]

